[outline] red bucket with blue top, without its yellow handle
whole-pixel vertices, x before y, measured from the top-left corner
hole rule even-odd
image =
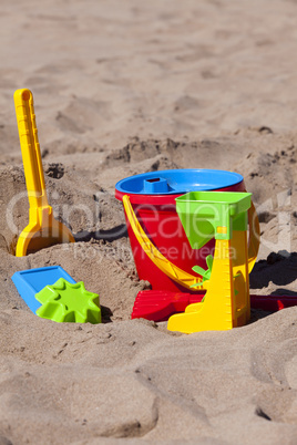
[[[221,185],[221,186],[219,186]],[[193,190],[245,192],[240,175],[224,170],[183,169],[135,175],[119,182],[115,197],[130,197],[132,208],[147,238],[172,263],[195,275],[194,266],[207,269],[206,257],[214,251],[214,239],[201,249],[192,249],[176,214],[175,198]],[[148,193],[147,193],[148,192]],[[172,280],[145,253],[125,213],[131,248],[141,280],[147,280],[153,290],[197,292]]]

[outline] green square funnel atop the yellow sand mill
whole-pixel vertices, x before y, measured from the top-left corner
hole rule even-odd
[[[178,196],[176,211],[191,247],[199,249],[213,237],[231,239],[232,230],[246,230],[250,196],[242,192],[190,192]]]

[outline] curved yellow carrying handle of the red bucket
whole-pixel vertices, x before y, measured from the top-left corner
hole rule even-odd
[[[193,276],[191,273],[187,273],[185,270],[180,269],[155,248],[155,246],[152,244],[152,241],[148,239],[147,235],[141,227],[140,221],[130,203],[130,197],[127,195],[123,196],[123,205],[127,220],[131,225],[131,228],[135,237],[137,238],[145,253],[154,262],[154,265],[158,267],[158,269],[161,269],[172,280],[178,282],[180,284],[182,284],[184,288],[187,289],[190,289],[191,286],[193,284],[202,282],[202,279],[199,277]],[[248,220],[250,224],[249,247],[248,247],[248,272],[250,272],[256,261],[259,248],[259,221],[253,203],[249,210]],[[199,286],[199,290],[203,289],[204,289],[203,286]]]

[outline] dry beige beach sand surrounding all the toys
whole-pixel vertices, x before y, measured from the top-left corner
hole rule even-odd
[[[297,308],[192,335],[131,321],[146,283],[113,197],[152,169],[242,173],[262,224],[252,291],[296,294],[296,15],[293,0],[1,1],[1,445],[297,443]],[[19,87],[78,240],[25,258],[11,255],[28,221]],[[100,293],[112,322],[32,314],[11,276],[50,265]]]

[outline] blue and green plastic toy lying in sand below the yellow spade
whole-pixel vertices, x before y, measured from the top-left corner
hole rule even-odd
[[[13,273],[18,292],[31,311],[58,322],[100,323],[99,296],[88,292],[61,266],[28,269]]]

